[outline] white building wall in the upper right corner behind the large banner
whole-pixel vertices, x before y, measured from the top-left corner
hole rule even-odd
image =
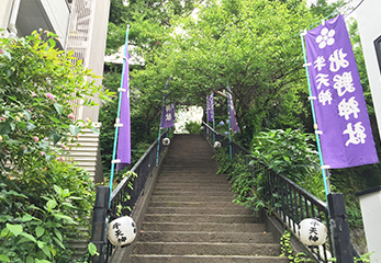
[[[356,0],[354,7],[356,7],[359,2],[359,0]],[[359,25],[361,45],[366,59],[376,117],[379,132],[381,132],[381,73],[373,44],[376,38],[381,35],[381,1],[362,1],[362,3],[356,10],[356,16]]]

